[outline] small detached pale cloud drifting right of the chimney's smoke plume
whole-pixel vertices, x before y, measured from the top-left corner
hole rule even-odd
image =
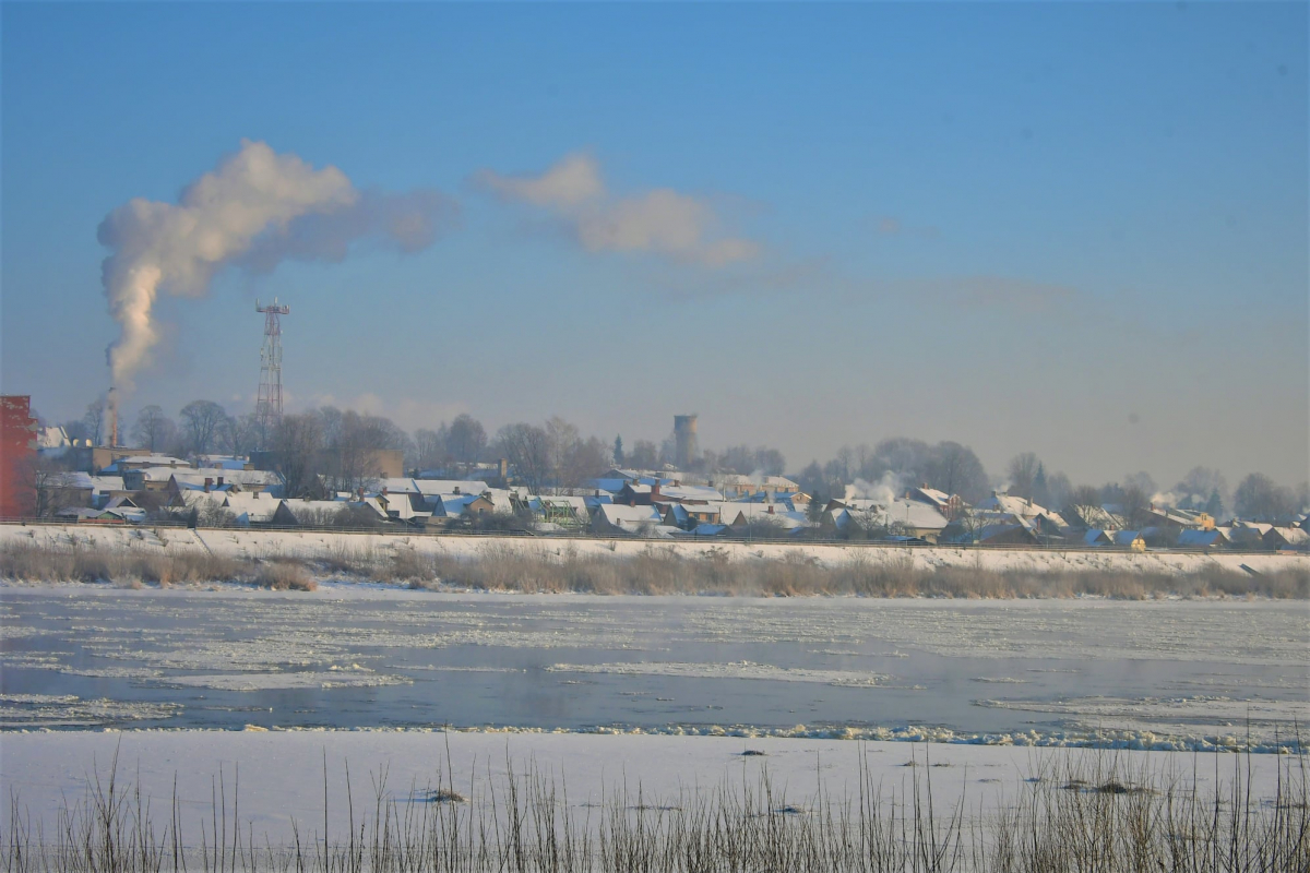
[[[483,170],[474,181],[503,200],[554,213],[587,251],[647,251],[706,267],[760,254],[758,243],[751,240],[719,236],[719,217],[701,198],[672,188],[610,196],[600,165],[590,154],[567,154],[541,175]]]

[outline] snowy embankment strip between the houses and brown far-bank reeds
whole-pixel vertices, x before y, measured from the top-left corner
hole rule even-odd
[[[1224,552],[1145,552],[1128,551],[1060,551],[1031,548],[960,548],[897,547],[814,543],[740,543],[740,542],[659,542],[637,539],[532,539],[483,537],[468,534],[402,535],[283,530],[187,530],[183,527],[100,527],[93,525],[0,525],[0,543],[31,542],[38,544],[81,544],[92,548],[173,550],[203,548],[215,555],[240,558],[296,556],[307,559],[389,558],[403,550],[419,554],[444,552],[458,559],[476,559],[487,548],[523,551],[557,556],[631,556],[647,548],[673,548],[686,556],[701,556],[711,550],[734,560],[782,558],[804,554],[836,567],[861,556],[875,564],[912,561],[916,569],[962,568],[986,571],[1117,571],[1131,573],[1192,573],[1222,567],[1239,571],[1242,564],[1256,572],[1277,572],[1310,565],[1307,555]]]

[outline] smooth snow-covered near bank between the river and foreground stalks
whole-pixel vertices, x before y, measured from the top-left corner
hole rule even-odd
[[[1188,781],[1195,775],[1203,793],[1216,781],[1230,783],[1235,768],[1243,774],[1250,768],[1256,802],[1273,794],[1279,767],[1286,762],[1277,755],[1212,759],[1158,751],[490,732],[48,732],[7,733],[3,743],[0,821],[10,821],[17,802],[33,828],[41,825],[52,832],[60,805],[81,798],[97,776],[106,785],[117,755],[119,780],[140,785],[156,818],[168,818],[177,780],[183,834],[191,844],[199,843],[200,823],[211,821],[221,774],[228,813],[236,794],[242,832],[253,831],[259,846],[265,839],[288,844],[292,821],[299,822],[301,839],[322,832],[325,770],[328,828],[345,834],[347,764],[358,828],[375,809],[375,785],[384,785],[383,796],[401,805],[422,802],[422,789],[439,785],[477,802],[493,783],[500,792],[510,767],[519,775],[534,768],[557,780],[567,788],[570,811],[579,818],[590,811],[595,821],[596,805],[616,792],[626,793],[631,804],[641,791],[646,806],[676,806],[722,787],[755,785],[764,774],[779,806],[804,808],[820,784],[829,796],[854,796],[862,757],[870,784],[884,797],[893,792],[905,797],[916,777],[927,776],[938,809],[963,798],[965,817],[1013,802],[1024,779],[1040,779],[1068,755],[1089,767],[1098,760],[1103,767],[1116,763],[1120,781],[1129,784],[1142,781],[1142,768]]]

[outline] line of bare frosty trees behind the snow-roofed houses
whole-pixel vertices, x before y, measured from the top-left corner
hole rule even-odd
[[[103,398],[86,414],[64,424],[72,438],[103,441]],[[376,452],[400,450],[406,470],[435,471],[460,476],[483,461],[504,458],[515,476],[529,490],[586,487],[610,466],[660,470],[675,461],[673,435],[663,440],[635,440],[625,448],[621,437],[612,444],[583,437],[578,428],[555,416],[541,424],[515,423],[494,437],[470,415],[460,415],[435,429],[419,428],[413,437],[389,419],[322,407],[286,415],[275,433],[259,435],[252,415],[233,416],[212,401],[193,401],[174,421],[159,406],[143,407],[130,429],[134,442],[149,452],[179,457],[225,453],[249,454],[259,444],[274,452],[276,469],[287,480],[287,493],[312,496],[324,491],[356,491],[376,479]],[[693,471],[781,475],[786,459],[777,449],[738,445],[722,452],[706,450]],[[1112,505],[1136,522],[1151,504],[1205,510],[1216,518],[1235,513],[1242,518],[1282,520],[1310,505],[1310,486],[1290,488],[1260,472],[1247,475],[1229,490],[1222,474],[1193,467],[1172,488],[1163,490],[1146,472],[1134,472],[1102,486],[1073,484],[1064,472],[1051,471],[1032,452],[1022,452],[1006,465],[1005,475],[989,476],[975,452],[959,442],[927,444],[895,437],[875,446],[842,446],[825,463],[811,462],[793,474],[802,491],[819,503],[841,497],[852,483],[880,484],[903,491],[927,484],[977,503],[993,490],[1031,500],[1048,509]]]

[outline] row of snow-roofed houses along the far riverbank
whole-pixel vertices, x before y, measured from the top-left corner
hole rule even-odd
[[[267,526],[405,525],[515,526],[537,534],[591,533],[656,538],[883,539],[905,543],[1078,546],[1094,548],[1310,548],[1310,520],[1297,526],[1234,521],[1216,525],[1203,512],[1150,507],[1129,524],[1114,507],[1055,512],[994,492],[968,505],[925,486],[901,496],[859,496],[821,508],[785,476],[681,474],[613,469],[590,488],[536,495],[486,479],[385,476],[371,488],[330,500],[287,499],[282,480],[242,458],[207,455],[195,466],[166,455],[117,458],[100,474],[60,476],[76,521],[139,524],[151,512],[198,524]],[[503,474],[503,469],[498,472]]]

